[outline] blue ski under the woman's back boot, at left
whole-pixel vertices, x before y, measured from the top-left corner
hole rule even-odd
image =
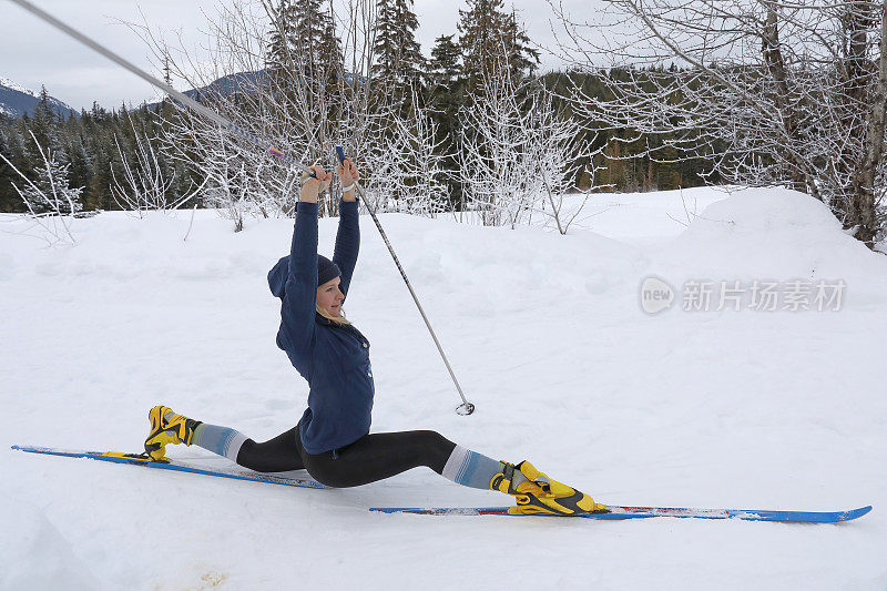
[[[204,476],[217,476],[220,478],[233,478],[235,480],[251,480],[254,482],[266,482],[268,485],[283,485],[286,487],[300,487],[300,488],[327,488],[320,482],[307,478],[289,478],[278,475],[254,472],[244,468],[223,468],[207,470],[181,460],[164,460],[155,461],[144,455],[136,454],[122,454],[120,451],[69,451],[64,449],[55,449],[51,447],[29,447],[29,446],[12,446],[12,449],[27,451],[29,454],[47,454],[50,456],[61,456],[64,458],[89,458],[91,460],[111,461],[114,463],[129,463],[131,466],[145,466],[147,468],[157,468],[160,470],[175,470],[179,472],[191,472]]]

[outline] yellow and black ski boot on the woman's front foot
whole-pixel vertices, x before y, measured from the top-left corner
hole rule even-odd
[[[508,509],[511,514],[571,517],[608,512],[605,506],[594,502],[584,492],[549,478],[527,460],[517,466],[504,461],[502,463],[506,467],[492,478],[490,489],[517,498],[518,506]],[[518,478],[520,483],[513,486],[516,470],[526,480]]]

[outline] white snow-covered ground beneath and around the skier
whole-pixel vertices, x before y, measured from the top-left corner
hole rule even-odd
[[[471,417],[453,412],[449,377],[361,217],[346,309],[373,344],[374,430],[436,429],[528,458],[602,502],[870,514],[837,526],[386,516],[366,509],[509,499],[428,470],[316,491],[2,451],[137,451],[161,403],[264,440],[294,425],[307,394],[275,346],[265,283],[292,221],[233,234],[197,212],[183,242],[187,214],[102,214],[77,221],[77,247],[47,248],[6,216],[0,588],[887,588],[887,258],[787,191],[597,195],[581,217],[561,236],[383,216]],[[336,222],[320,221],[327,254]],[[648,276],[672,286],[671,309],[641,309]],[[716,309],[721,282],[772,282],[797,300],[794,281],[842,279],[838,310],[753,309],[748,292],[742,309]],[[707,312],[683,309],[694,285],[714,286]]]

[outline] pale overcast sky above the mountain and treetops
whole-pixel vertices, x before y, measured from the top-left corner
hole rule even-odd
[[[217,1],[31,0],[145,69],[151,65],[146,47],[120,21],[142,22],[141,9],[152,29],[166,35],[181,31],[186,47],[197,48],[201,31],[206,30],[205,14],[215,16]],[[550,44],[549,6],[544,0],[506,3],[513,3],[534,42],[543,47]],[[563,3],[574,16],[590,18],[598,0],[565,0]],[[428,55],[437,37],[456,33],[458,10],[466,6],[465,0],[415,0],[415,8],[419,18],[418,39],[422,52]],[[558,67],[554,58],[542,59],[544,69]],[[137,104],[157,95],[137,77],[4,0],[0,0],[0,77],[35,91],[45,84],[50,94],[74,109],[89,109],[93,101],[106,108],[118,106],[123,101]]]

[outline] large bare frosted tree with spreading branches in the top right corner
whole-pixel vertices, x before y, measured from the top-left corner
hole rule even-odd
[[[571,94],[589,126],[655,140],[643,157],[807,192],[858,240],[883,240],[887,3],[604,0],[590,22],[550,4],[570,65],[606,84]]]

